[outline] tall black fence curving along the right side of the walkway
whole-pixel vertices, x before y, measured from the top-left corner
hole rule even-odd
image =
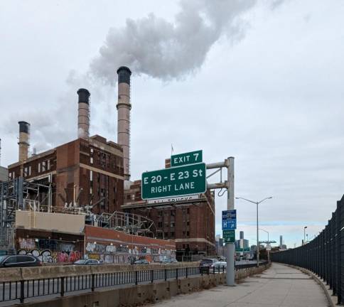
[[[343,302],[344,293],[344,195],[337,202],[337,209],[332,213],[325,229],[311,242],[271,253],[273,262],[293,264],[317,274],[338,297],[338,304]]]

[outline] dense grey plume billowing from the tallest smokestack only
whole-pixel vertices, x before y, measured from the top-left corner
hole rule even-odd
[[[193,73],[222,35],[232,41],[242,38],[246,23],[241,18],[255,2],[184,0],[173,23],[154,14],[136,21],[127,19],[124,28],[110,28],[90,72],[109,84],[121,65],[161,80]]]

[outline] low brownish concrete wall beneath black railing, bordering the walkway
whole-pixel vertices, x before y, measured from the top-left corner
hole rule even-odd
[[[236,280],[252,274],[259,274],[269,265],[259,268],[250,268],[237,272]],[[49,301],[25,303],[21,306],[27,307],[131,307],[144,303],[162,301],[182,293],[210,289],[219,284],[225,284],[225,274],[210,274],[203,276],[193,276],[188,279],[174,279],[171,281],[155,282],[154,284],[139,284],[121,289],[98,290],[95,292],[81,293],[75,296],[65,296],[63,298],[53,298]]]

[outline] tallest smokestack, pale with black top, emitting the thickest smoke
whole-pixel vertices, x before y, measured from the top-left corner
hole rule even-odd
[[[117,143],[123,147],[124,180],[130,178],[130,76],[131,71],[125,66],[117,70],[118,75],[118,119]]]

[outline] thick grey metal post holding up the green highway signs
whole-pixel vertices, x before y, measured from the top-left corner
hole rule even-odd
[[[234,210],[234,157],[227,158],[227,210]],[[226,243],[227,286],[235,286],[235,244]]]

